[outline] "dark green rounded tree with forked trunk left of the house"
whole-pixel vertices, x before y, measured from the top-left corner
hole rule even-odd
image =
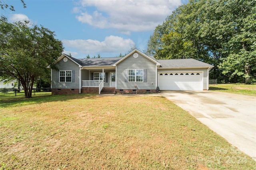
[[[0,19],[0,75],[18,80],[25,97],[31,98],[34,81],[50,75],[48,65],[56,68],[53,63],[63,47],[62,42],[54,38],[53,31],[27,24],[28,21],[9,23],[4,17]]]

